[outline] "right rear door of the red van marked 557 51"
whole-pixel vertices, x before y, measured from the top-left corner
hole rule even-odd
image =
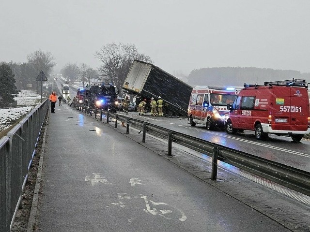
[[[291,131],[307,131],[309,97],[306,88],[291,88]]]

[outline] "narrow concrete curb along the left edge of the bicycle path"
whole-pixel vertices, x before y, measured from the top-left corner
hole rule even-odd
[[[42,177],[42,169],[43,169],[43,158],[44,158],[44,150],[45,150],[45,143],[46,143],[46,136],[47,136],[47,128],[48,128],[48,118],[49,118],[49,109],[48,109],[48,116],[47,116],[47,123],[45,127],[45,131],[43,134],[43,141],[42,141],[42,148],[40,153],[40,160],[39,160],[39,166],[38,166],[38,173],[37,173],[37,179],[35,182],[34,192],[33,192],[33,199],[31,203],[31,211],[30,216],[28,220],[28,226],[26,232],[33,232],[34,230],[34,224],[35,219],[37,216],[37,209],[38,209],[38,203],[39,203],[39,190],[41,185],[41,177]]]

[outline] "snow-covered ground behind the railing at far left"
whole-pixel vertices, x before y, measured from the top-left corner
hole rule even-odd
[[[17,101],[17,107],[0,109],[0,131],[12,126],[17,119],[27,115],[37,104],[40,104],[41,96],[36,91],[21,90],[15,101]],[[19,105],[24,107],[18,107]]]

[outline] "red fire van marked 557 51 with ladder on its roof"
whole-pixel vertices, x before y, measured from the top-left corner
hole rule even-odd
[[[299,142],[310,133],[307,89],[306,80],[301,79],[265,82],[263,86],[245,84],[233,104],[227,105],[226,132],[251,130],[257,139],[268,133],[288,134]]]

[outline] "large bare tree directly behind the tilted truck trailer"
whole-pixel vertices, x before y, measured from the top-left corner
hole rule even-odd
[[[102,79],[117,86],[123,86],[134,59],[153,62],[149,56],[138,53],[135,45],[123,43],[108,43],[96,52],[95,57],[102,61],[99,67]]]

